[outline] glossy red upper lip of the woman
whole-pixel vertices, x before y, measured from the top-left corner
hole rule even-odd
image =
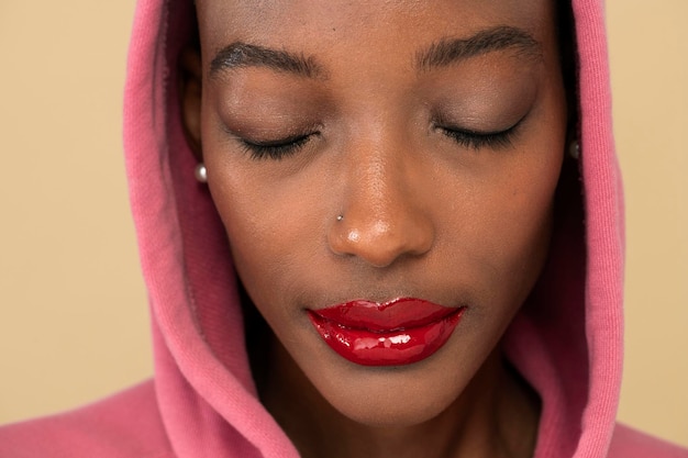
[[[425,326],[460,309],[423,299],[397,298],[386,302],[354,300],[309,312],[347,328],[391,332]]]

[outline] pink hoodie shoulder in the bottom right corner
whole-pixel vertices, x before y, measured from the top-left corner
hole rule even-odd
[[[617,424],[609,458],[688,458],[688,449]]]

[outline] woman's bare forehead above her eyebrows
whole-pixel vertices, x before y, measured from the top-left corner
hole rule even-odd
[[[497,25],[522,29],[545,46],[556,36],[554,0],[198,0],[197,10],[201,40],[214,51],[235,41],[397,51]]]

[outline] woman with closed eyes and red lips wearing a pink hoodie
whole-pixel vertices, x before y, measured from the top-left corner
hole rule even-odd
[[[190,4],[140,7],[126,147],[155,382],[0,444],[685,456],[613,423],[599,5],[575,5],[577,85],[551,1],[225,3],[197,3],[200,47]]]

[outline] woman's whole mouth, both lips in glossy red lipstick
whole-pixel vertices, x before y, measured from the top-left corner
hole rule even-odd
[[[385,303],[351,301],[309,310],[308,316],[330,348],[349,361],[402,366],[437,351],[458,325],[464,310],[400,298]]]

